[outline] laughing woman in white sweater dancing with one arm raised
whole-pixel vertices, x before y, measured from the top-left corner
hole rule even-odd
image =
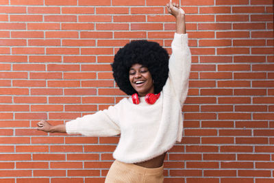
[[[132,97],[65,125],[38,122],[38,130],[44,132],[121,134],[113,154],[116,160],[105,182],[163,182],[166,151],[182,139],[182,106],[188,92],[191,54],[184,11],[171,1],[166,8],[176,19],[171,58],[158,43],[147,40],[132,41],[114,56],[114,80]]]

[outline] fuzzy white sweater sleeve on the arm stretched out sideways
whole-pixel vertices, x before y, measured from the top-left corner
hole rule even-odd
[[[108,110],[100,110],[66,123],[67,134],[82,134],[84,136],[114,136],[120,134],[118,119],[118,104]]]

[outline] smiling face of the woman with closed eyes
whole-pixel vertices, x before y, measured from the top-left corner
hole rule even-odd
[[[129,82],[140,97],[154,93],[153,80],[149,69],[141,64],[133,64],[129,69]]]

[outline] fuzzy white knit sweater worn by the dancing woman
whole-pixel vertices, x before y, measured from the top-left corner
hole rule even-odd
[[[69,121],[66,132],[85,136],[121,134],[113,156],[126,163],[149,160],[171,149],[183,133],[182,106],[191,65],[188,34],[175,33],[171,48],[169,77],[153,105],[147,104],[144,97],[138,105],[131,97],[124,98],[108,110]]]

